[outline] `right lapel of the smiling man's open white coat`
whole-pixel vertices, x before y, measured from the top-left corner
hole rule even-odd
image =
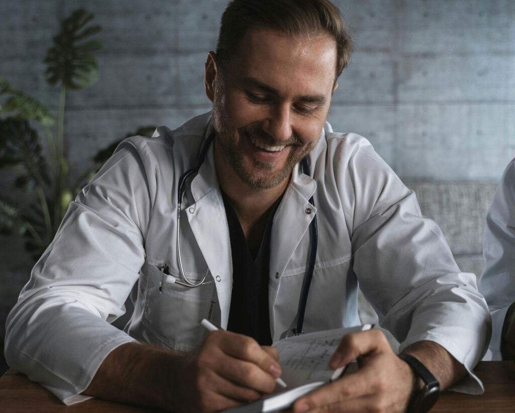
[[[272,337],[276,318],[273,307],[276,303],[281,276],[316,214],[316,208],[309,201],[315,190],[316,182],[300,172],[300,165],[294,168],[283,202],[273,218],[270,238],[271,288],[268,289]],[[311,213],[307,213],[308,209]]]

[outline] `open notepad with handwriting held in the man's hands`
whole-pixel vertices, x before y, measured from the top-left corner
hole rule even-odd
[[[279,353],[279,364],[283,371],[281,378],[288,387],[283,389],[278,386],[275,393],[225,411],[227,413],[271,412],[290,407],[304,394],[331,381],[335,370],[329,368],[329,359],[344,335],[370,328],[372,328],[370,324],[358,325],[302,334],[274,342],[272,346]],[[345,369],[341,369],[341,373],[355,370],[357,370],[357,363],[352,362]],[[339,375],[338,371],[336,373]]]

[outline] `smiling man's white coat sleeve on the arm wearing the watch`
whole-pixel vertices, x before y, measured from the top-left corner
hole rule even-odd
[[[463,364],[469,376],[454,390],[480,393],[472,369],[488,347],[491,322],[472,273],[461,272],[436,223],[370,147],[351,159],[355,194],[353,269],[380,325],[400,350],[429,340]]]

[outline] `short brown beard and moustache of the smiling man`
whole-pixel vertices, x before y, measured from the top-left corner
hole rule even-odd
[[[295,134],[291,135],[286,141],[276,141],[272,136],[261,129],[258,124],[246,125],[238,128],[236,131],[231,130],[226,126],[227,123],[224,122],[224,119],[222,119],[221,105],[222,101],[215,99],[213,105],[213,124],[217,132],[216,139],[236,176],[251,188],[268,190],[278,186],[291,175],[291,171],[293,171],[295,165],[318,144],[317,139],[310,142],[305,147],[302,147],[299,137]],[[265,162],[259,159],[252,159],[252,170],[249,170],[249,168],[245,166],[241,146],[243,146],[244,140],[249,139],[250,136],[256,136],[261,141],[267,142],[271,146],[285,144],[291,146],[288,158],[281,170],[272,175],[271,170],[275,166],[275,162]],[[239,142],[238,145],[234,144],[236,141]]]

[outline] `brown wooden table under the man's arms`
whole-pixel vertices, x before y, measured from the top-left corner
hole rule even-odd
[[[515,363],[480,362],[474,371],[485,385],[484,394],[472,396],[455,392],[444,393],[431,412],[515,412]],[[28,380],[24,374],[8,371],[0,378],[0,411],[4,413],[140,413],[161,410],[98,399],[65,406],[48,390]]]

